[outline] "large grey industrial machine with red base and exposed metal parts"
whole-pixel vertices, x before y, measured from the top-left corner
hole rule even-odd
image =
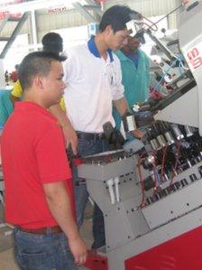
[[[190,1],[180,15],[189,70],[170,95],[148,104],[144,148],[88,156],[78,166],[104,214],[108,270],[202,269],[201,14],[202,3]]]

